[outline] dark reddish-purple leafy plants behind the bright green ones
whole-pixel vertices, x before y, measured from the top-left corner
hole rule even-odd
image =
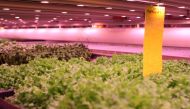
[[[0,44],[0,64],[20,65],[26,64],[36,57],[58,58],[69,60],[71,58],[90,58],[90,52],[83,44],[64,45],[31,45],[23,46],[16,42]]]

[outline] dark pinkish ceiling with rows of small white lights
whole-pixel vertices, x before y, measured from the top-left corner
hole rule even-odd
[[[166,24],[190,24],[189,0],[0,0],[0,27],[143,24],[148,5],[166,7]]]

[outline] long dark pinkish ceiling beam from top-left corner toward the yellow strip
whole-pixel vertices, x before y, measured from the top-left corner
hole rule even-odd
[[[76,12],[88,12],[88,13],[102,13],[102,14],[110,14],[110,15],[128,15],[128,16],[136,16],[140,15],[138,13],[127,12],[125,10],[105,10],[99,8],[90,8],[90,7],[77,7],[77,6],[56,6],[52,4],[42,5],[39,3],[25,3],[25,2],[10,2],[10,1],[0,1],[0,7],[9,7],[9,8],[17,8],[17,9],[40,9],[47,11],[76,11]],[[141,14],[141,16],[143,13]]]

